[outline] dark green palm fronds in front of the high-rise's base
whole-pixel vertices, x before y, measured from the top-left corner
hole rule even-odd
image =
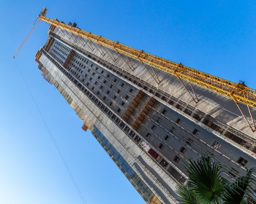
[[[255,195],[252,184],[256,184],[255,168],[246,171],[245,176],[230,182],[223,178],[225,168],[214,162],[209,154],[186,164],[189,180],[177,187],[182,204],[244,204],[247,197]],[[256,195],[255,195],[256,196]]]

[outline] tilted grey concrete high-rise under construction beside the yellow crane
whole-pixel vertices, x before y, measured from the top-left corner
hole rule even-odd
[[[161,68],[167,60],[143,51],[135,58],[126,53],[138,50],[108,46],[112,41],[52,21],[36,54],[42,75],[146,203],[178,203],[176,185],[187,182],[189,158],[211,154],[230,180],[256,166],[256,94],[244,82],[232,88],[232,82],[176,63],[170,72]],[[230,95],[222,93],[229,85]]]

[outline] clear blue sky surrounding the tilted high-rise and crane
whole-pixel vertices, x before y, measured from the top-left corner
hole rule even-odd
[[[34,55],[47,39],[39,23],[12,55],[42,7],[94,34],[233,82],[256,87],[256,2],[0,1],[0,203],[82,203],[18,71],[64,154],[87,204],[143,203],[75,111],[42,79]]]

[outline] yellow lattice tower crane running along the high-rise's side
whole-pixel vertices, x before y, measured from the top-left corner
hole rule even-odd
[[[252,123],[256,130],[255,121],[252,117],[252,112],[250,111],[250,108],[256,109],[256,90],[247,87],[244,84],[244,82],[238,82],[238,83],[230,82],[226,79],[222,79],[217,76],[207,74],[203,71],[198,71],[194,68],[189,68],[188,66],[184,66],[181,63],[175,63],[170,60],[165,60],[164,58],[159,58],[155,55],[151,55],[147,52],[144,52],[143,50],[137,50],[127,45],[121,44],[119,42],[114,42],[110,39],[106,39],[102,36],[91,34],[90,32],[83,31],[80,28],[75,28],[65,23],[61,23],[59,22],[59,20],[52,20],[48,17],[45,17],[46,11],[47,9],[43,8],[40,14],[37,16],[37,22],[34,24],[33,28],[29,32],[29,35],[37,26],[39,21],[42,20],[51,25],[50,26],[51,31],[53,31],[56,27],[61,28],[62,30],[68,31],[72,34],[80,36],[81,38],[88,39],[91,42],[97,43],[104,47],[108,47],[111,50],[127,55],[130,58],[133,58],[135,60],[139,60],[143,64],[147,64],[159,70],[165,71],[169,74],[172,74],[173,76],[176,76],[179,80],[182,79],[189,82],[190,85],[191,84],[197,85],[205,88],[206,90],[210,90],[214,93],[217,93],[219,95],[224,95],[225,97],[232,99],[236,103],[236,105],[238,106],[238,109],[241,111],[241,114],[243,114],[244,119],[246,119],[246,117],[243,111],[241,110],[239,103],[243,103],[244,105],[247,106],[249,114],[252,118]],[[29,35],[26,36],[26,39],[28,39]],[[20,45],[17,52],[15,52],[15,55],[13,56],[13,58],[15,58],[15,56],[18,54],[21,47],[26,42],[26,39]],[[247,119],[246,119],[246,122],[249,125],[249,122]],[[251,125],[249,126],[251,127]]]

